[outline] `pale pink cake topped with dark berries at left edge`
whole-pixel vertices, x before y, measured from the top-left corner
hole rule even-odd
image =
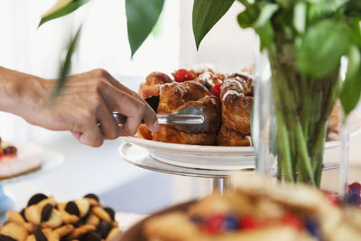
[[[42,167],[42,149],[33,144],[7,144],[0,138],[0,180]]]

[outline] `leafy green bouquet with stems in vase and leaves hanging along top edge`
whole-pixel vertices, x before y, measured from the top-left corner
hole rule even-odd
[[[68,2],[45,20],[88,1]],[[192,25],[197,48],[235,0],[194,0]],[[346,115],[361,93],[361,2],[359,0],[238,0],[242,28],[258,34],[272,69],[279,176],[319,185],[329,116],[339,97]],[[78,3],[78,4],[76,4]],[[71,6],[71,7],[70,7]],[[129,43],[134,52],[152,31],[163,0],[126,0]],[[57,13],[57,14],[55,14]],[[341,58],[346,79],[339,82]]]

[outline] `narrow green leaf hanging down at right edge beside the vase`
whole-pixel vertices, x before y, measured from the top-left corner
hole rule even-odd
[[[361,94],[361,53],[352,45],[348,54],[346,79],[342,85],[339,98],[348,115],[357,105]]]

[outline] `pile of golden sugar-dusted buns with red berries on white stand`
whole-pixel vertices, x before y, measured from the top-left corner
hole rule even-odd
[[[254,66],[250,64],[231,74],[218,72],[210,65],[177,70],[172,74],[173,78],[152,72],[140,85],[139,94],[144,99],[160,98],[158,114],[203,105],[213,107],[218,116],[214,117],[215,125],[206,133],[180,132],[171,125],[161,125],[159,132],[151,133],[145,125],[140,125],[136,136],[174,144],[252,146],[253,71]],[[328,141],[337,140],[339,122],[340,107],[336,105],[329,120]]]

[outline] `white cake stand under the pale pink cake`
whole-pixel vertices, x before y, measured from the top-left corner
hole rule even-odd
[[[42,167],[38,171],[32,171],[14,178],[9,178],[0,181],[0,221],[5,220],[5,213],[10,209],[14,209],[14,197],[11,193],[7,193],[4,189],[6,184],[26,181],[33,178],[36,178],[42,174],[49,173],[50,171],[56,169],[64,162],[64,156],[51,149],[42,150]]]

